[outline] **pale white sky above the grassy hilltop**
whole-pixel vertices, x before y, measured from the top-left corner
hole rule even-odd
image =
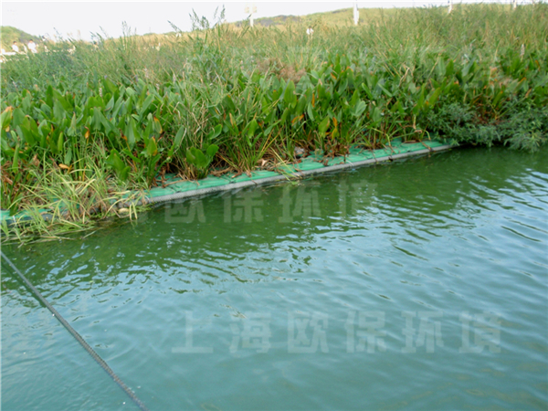
[[[484,0],[483,2],[492,2]],[[509,3],[500,0],[498,3]],[[522,3],[520,0],[519,3]],[[460,3],[454,0],[454,3]],[[479,3],[465,0],[463,3]],[[448,0],[366,0],[357,2],[359,8],[366,7],[411,7],[426,5],[447,5]],[[94,34],[101,37],[120,37],[123,23],[133,34],[167,33],[174,31],[170,22],[183,31],[190,31],[192,23],[189,14],[195,11],[213,21],[216,8],[225,6],[228,22],[244,20],[248,17],[246,6],[257,7],[255,18],[293,15],[304,16],[341,8],[351,8],[353,1],[292,1],[292,2],[26,2],[2,1],[2,26],[14,26],[33,36],[54,38],[75,38],[90,41]]]

